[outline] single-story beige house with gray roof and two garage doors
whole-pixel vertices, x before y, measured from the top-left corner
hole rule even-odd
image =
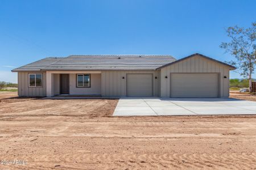
[[[196,53],[48,57],[12,71],[19,96],[228,97],[234,69]]]

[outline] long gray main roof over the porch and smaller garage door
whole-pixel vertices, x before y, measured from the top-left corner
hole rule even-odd
[[[176,61],[172,56],[161,55],[88,55],[64,58],[48,57],[13,71],[40,70],[155,70]]]

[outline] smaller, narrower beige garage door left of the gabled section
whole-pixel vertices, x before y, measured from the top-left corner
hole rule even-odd
[[[127,74],[126,83],[127,96],[153,95],[152,74]]]

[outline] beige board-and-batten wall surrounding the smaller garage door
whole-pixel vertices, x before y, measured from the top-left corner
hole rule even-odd
[[[160,70],[116,70],[101,72],[101,95],[108,97],[127,96],[127,74],[152,74],[153,96],[159,96]],[[156,77],[156,79],[155,79]]]

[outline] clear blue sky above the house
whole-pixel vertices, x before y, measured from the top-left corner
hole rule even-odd
[[[201,53],[230,61],[219,48],[229,40],[225,28],[255,20],[249,0],[1,0],[0,80],[17,82],[14,67],[71,54]]]

